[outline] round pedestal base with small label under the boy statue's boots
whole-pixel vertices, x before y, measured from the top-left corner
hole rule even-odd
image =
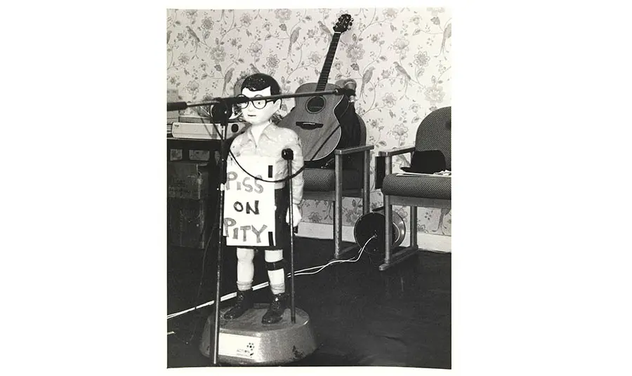
[[[268,304],[255,304],[253,309],[234,320],[223,318],[228,309],[220,310],[220,336],[218,361],[235,365],[279,365],[299,361],[316,348],[310,317],[296,308],[296,323],[291,322],[290,309],[286,309],[279,323],[264,325],[261,318]],[[206,318],[199,351],[212,357],[214,354],[215,315]]]

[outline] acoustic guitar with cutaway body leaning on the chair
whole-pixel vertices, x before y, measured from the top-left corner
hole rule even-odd
[[[350,15],[344,14],[338,18],[334,26],[327,58],[317,83],[303,83],[296,89],[296,93],[310,93],[324,90],[334,90],[338,86],[327,83],[331,63],[336,55],[338,41],[343,32],[352,25]],[[279,126],[294,130],[303,145],[303,159],[320,161],[327,159],[341,141],[339,119],[349,108],[349,98],[346,96],[317,96],[296,98],[295,107],[280,121]],[[324,142],[324,145],[323,145]],[[322,147],[321,147],[322,146]]]

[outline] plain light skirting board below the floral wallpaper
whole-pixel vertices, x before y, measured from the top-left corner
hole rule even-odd
[[[334,239],[334,227],[331,224],[324,223],[305,223],[298,224],[298,236],[314,239]],[[409,246],[410,234],[406,234],[404,241],[400,246]],[[353,227],[343,226],[343,241],[355,243],[353,236]],[[420,249],[436,250],[438,252],[452,252],[452,237],[445,235],[417,233],[417,246]]]

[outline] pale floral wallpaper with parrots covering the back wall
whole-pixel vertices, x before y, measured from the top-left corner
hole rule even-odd
[[[333,27],[348,13],[353,25],[338,43],[330,83],[357,82],[357,113],[376,151],[414,145],[428,113],[451,105],[452,15],[447,8],[265,9],[167,11],[167,87],[181,100],[235,95],[240,79],[255,72],[274,76],[283,93],[318,81]],[[237,90],[239,90],[237,88]],[[284,100],[282,114],[294,106]],[[181,114],[188,114],[187,109]],[[176,156],[174,156],[176,157]],[[203,153],[192,156],[205,159]],[[382,206],[374,188],[371,207]],[[409,155],[395,160],[409,166]],[[408,208],[395,207],[404,220]],[[450,235],[450,210],[418,209],[422,233]],[[304,201],[304,222],[331,223],[327,201]],[[362,215],[362,200],[345,198],[343,225]]]

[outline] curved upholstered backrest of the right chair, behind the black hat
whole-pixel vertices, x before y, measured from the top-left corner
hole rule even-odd
[[[430,112],[417,128],[415,150],[440,150],[445,164],[452,170],[452,107],[442,107]]]

